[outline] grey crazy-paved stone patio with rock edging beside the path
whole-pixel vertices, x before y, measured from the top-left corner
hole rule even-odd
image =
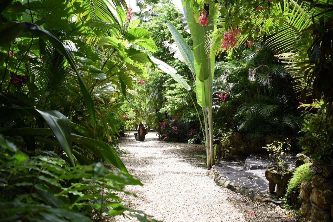
[[[294,170],[296,155],[291,154],[291,156],[284,162],[284,167]],[[253,154],[246,159],[220,159],[207,175],[219,185],[248,194],[246,196],[252,198],[261,196],[268,201],[278,202],[274,200],[276,196],[268,192],[268,181],[265,178],[265,170],[274,166],[274,162],[268,155]]]

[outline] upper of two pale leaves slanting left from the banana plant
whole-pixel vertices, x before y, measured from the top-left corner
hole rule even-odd
[[[178,50],[185,61],[185,64],[192,73],[195,73],[192,50],[189,48],[185,39],[180,35],[178,30],[170,22],[167,22],[166,26],[168,27],[173,40],[175,41]]]

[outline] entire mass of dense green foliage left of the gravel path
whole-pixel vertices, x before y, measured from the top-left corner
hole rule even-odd
[[[154,68],[139,23],[116,1],[1,3],[2,219],[149,219],[115,194],[141,184],[117,155],[134,117],[126,107]]]

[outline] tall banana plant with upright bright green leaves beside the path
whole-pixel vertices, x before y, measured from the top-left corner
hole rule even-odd
[[[209,57],[209,51],[205,48],[207,34],[216,29],[218,4],[202,2],[182,1],[182,23],[188,28],[193,39],[193,51],[179,34],[175,27],[168,22],[167,27],[177,45],[183,61],[192,72],[196,82],[196,100],[202,107],[203,122],[205,127],[205,146],[207,156],[207,168],[215,163],[213,149],[213,123],[212,123],[212,79],[214,75],[215,58]],[[199,9],[200,12],[199,12]]]

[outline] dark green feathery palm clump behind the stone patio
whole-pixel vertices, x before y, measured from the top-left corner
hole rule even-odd
[[[274,59],[265,45],[242,52],[240,61],[229,53],[227,62],[215,67],[213,110],[220,121],[235,130],[260,135],[289,130],[297,132],[297,100],[293,96],[289,74]],[[283,107],[283,109],[282,109]]]

